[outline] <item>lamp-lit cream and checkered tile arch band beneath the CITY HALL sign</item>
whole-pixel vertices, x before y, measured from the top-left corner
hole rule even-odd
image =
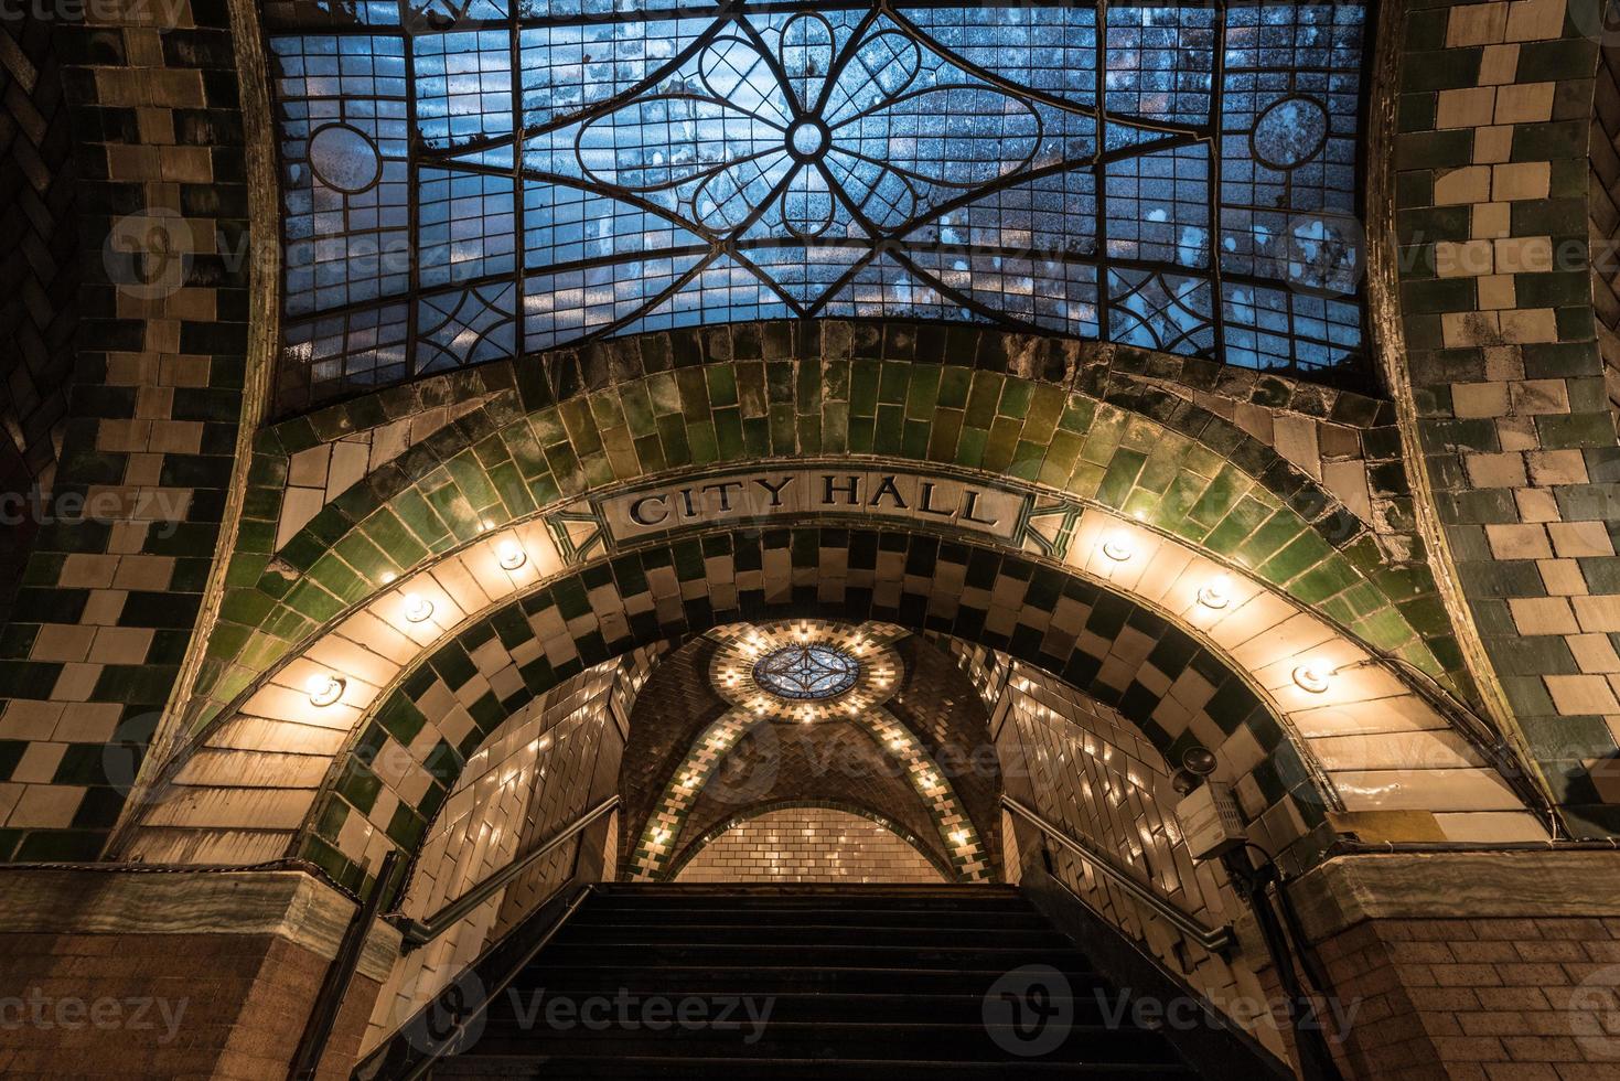
[[[1098,553],[1102,533],[1116,528],[1131,530],[1137,545],[1129,564],[1113,566]],[[1267,805],[1296,805],[1302,833],[1286,840],[1301,851],[1332,840],[1324,815],[1340,804],[1435,810],[1456,836],[1471,840],[1539,833],[1477,750],[1460,744],[1447,720],[1362,647],[1252,582],[1234,585],[1226,609],[1200,609],[1194,595],[1215,564],[1113,515],[1087,512],[1069,566],[907,532],[807,527],[714,532],[565,569],[541,525],[512,536],[528,551],[517,570],[499,567],[491,535],[399,583],[436,603],[429,621],[407,624],[395,590],[277,669],[131,815],[117,854],[199,859],[215,851],[214,838],[253,822],[356,882],[347,854],[319,848],[319,823],[348,786],[374,789],[389,780],[347,750],[373,747],[377,760],[416,762],[436,788],[454,781],[462,755],[431,731],[413,700],[436,679],[431,658],[452,643],[452,690],[476,674],[476,664],[460,660],[467,643],[476,648],[491,637],[502,653],[528,647],[533,660],[522,679],[543,687],[629,648],[718,622],[784,616],[883,619],[1004,650],[1116,705],[1171,760],[1192,742],[1221,742],[1246,729],[1262,752],[1251,771]],[[1299,648],[1315,648],[1346,676],[1325,695],[1301,692],[1290,679]],[[318,710],[303,687],[321,671],[343,673],[348,684],[339,703]],[[497,705],[488,707],[491,723]],[[403,739],[390,731],[402,718],[413,728]],[[1343,770],[1322,770],[1311,742],[1343,736],[1361,739],[1362,754],[1351,754]],[[1405,768],[1358,768],[1392,736]],[[306,752],[311,768],[301,780],[266,770],[243,784],[207,762],[243,750],[285,757],[311,746],[318,752]],[[332,760],[339,780],[327,781],[327,770],[313,765]],[[306,823],[314,830],[305,833]],[[219,851],[232,849],[219,841]]]

